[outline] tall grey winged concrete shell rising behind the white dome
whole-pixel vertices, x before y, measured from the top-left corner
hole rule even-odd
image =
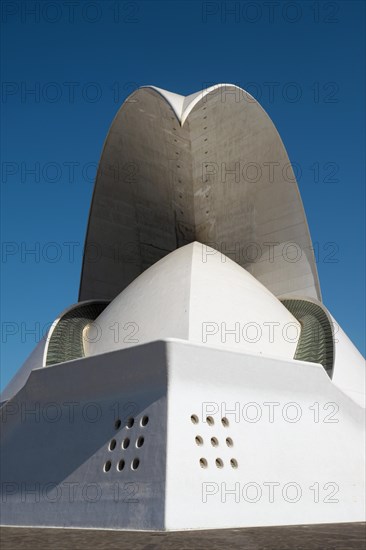
[[[104,145],[79,300],[113,299],[193,241],[228,255],[276,296],[321,299],[296,179],[262,107],[230,84],[186,98],[140,88]]]

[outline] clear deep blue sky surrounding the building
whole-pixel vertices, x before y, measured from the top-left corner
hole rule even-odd
[[[364,353],[364,2],[73,5],[1,5],[1,386],[35,346],[27,331],[77,301],[95,165],[144,84],[188,95],[230,82],[260,101],[301,167],[323,300]]]

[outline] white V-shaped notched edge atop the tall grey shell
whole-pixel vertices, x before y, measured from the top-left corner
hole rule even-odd
[[[243,88],[241,88],[240,86],[237,86],[236,84],[229,84],[229,83],[214,84],[209,88],[205,88],[204,90],[195,92],[194,94],[187,95],[187,96],[174,94],[173,92],[168,92],[167,90],[164,90],[163,88],[158,88],[157,86],[149,86],[149,85],[141,86],[139,90],[141,88],[150,88],[151,90],[155,90],[156,92],[158,92],[169,103],[169,105],[177,115],[177,118],[181,126],[183,126],[189,113],[192,111],[193,107],[197,105],[197,103],[199,103],[205,96],[207,96],[211,92],[219,88],[226,88],[226,87],[236,88],[237,90],[240,90],[245,94],[247,94],[247,96],[250,99],[253,99],[254,101],[256,101],[255,98],[249,92],[245,91]]]

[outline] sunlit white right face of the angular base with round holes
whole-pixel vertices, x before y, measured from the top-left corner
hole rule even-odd
[[[364,410],[320,365],[168,357],[167,530],[364,521]]]

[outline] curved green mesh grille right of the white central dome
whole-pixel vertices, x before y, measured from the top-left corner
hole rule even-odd
[[[281,300],[301,324],[295,359],[320,363],[329,376],[332,374],[334,344],[331,322],[325,311],[307,300]]]

